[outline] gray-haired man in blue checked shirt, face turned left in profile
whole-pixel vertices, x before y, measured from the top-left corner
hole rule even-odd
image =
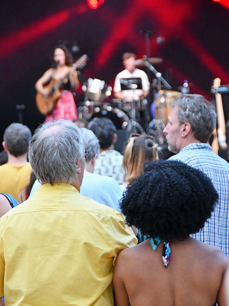
[[[169,150],[176,153],[169,159],[202,170],[219,194],[212,217],[192,237],[218,246],[229,257],[229,164],[207,144],[215,125],[214,107],[202,95],[180,95],[173,103],[164,133]]]

